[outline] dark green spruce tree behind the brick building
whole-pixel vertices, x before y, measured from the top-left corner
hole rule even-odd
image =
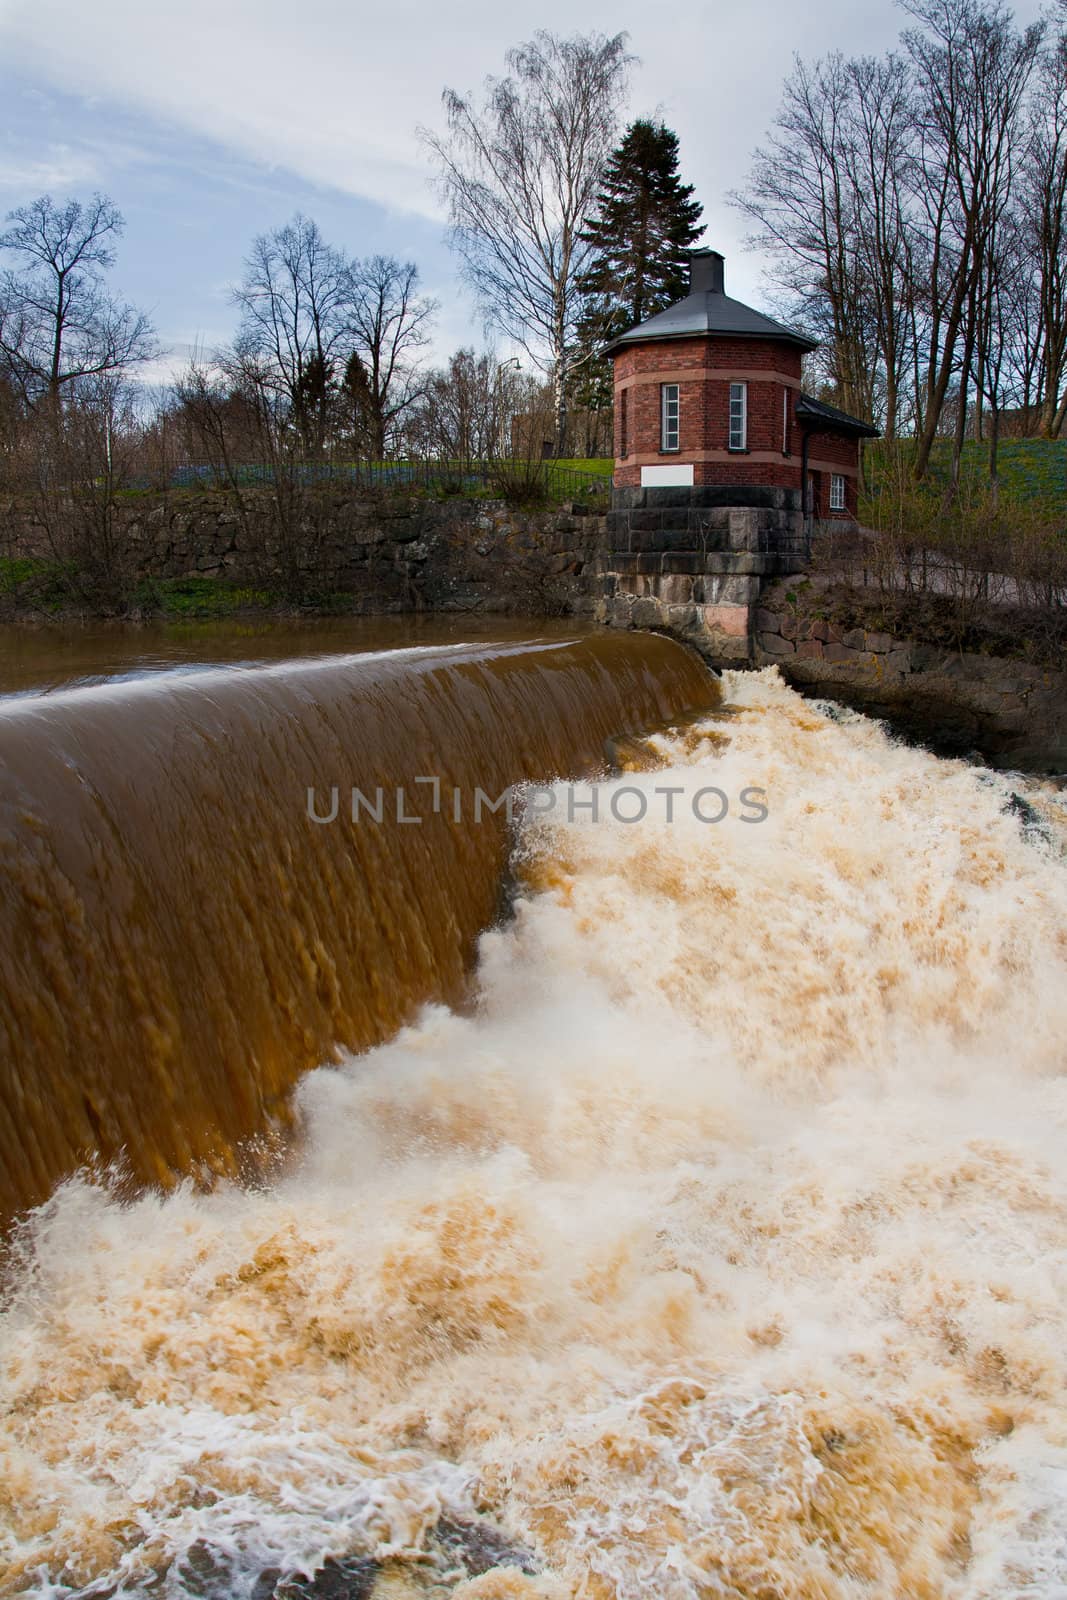
[[[678,136],[638,118],[613,152],[582,240],[593,246],[579,280],[576,405],[611,405],[611,363],[595,350],[681,299],[688,251],[702,234],[702,205],[678,178]]]

